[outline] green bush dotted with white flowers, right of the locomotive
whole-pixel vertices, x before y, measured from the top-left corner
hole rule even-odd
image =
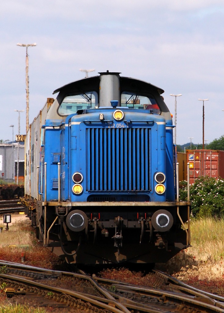
[[[180,182],[180,201],[187,199],[187,182]],[[201,176],[190,186],[191,215],[224,218],[224,180]]]

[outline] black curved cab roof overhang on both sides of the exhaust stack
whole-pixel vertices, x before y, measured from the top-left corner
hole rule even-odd
[[[99,74],[111,74],[111,75],[119,75],[120,73],[99,73]],[[56,90],[54,90],[53,95],[62,91],[64,93],[69,92],[69,91],[81,91],[81,90],[92,90],[92,89],[99,89],[99,77],[100,75],[97,76],[91,76],[91,77],[86,77],[80,80],[76,80],[74,82],[71,82],[67,85],[64,85]],[[157,91],[160,95],[164,93],[164,90],[152,85],[150,83],[147,83],[143,80],[139,80],[136,78],[131,78],[131,77],[124,77],[120,76],[120,84],[123,90],[137,90],[137,91],[142,91],[142,92],[148,92],[148,91]]]

